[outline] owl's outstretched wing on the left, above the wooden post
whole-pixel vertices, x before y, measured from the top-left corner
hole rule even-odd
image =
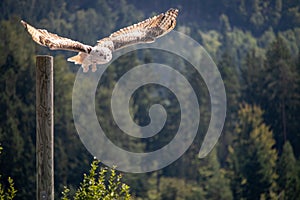
[[[49,33],[45,29],[36,29],[23,20],[21,20],[21,23],[36,43],[49,47],[51,50],[69,50],[84,53],[90,53],[92,50],[89,45]]]

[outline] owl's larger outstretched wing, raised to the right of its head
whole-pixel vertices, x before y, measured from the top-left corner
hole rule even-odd
[[[120,29],[109,37],[99,40],[97,45],[108,47],[113,51],[137,43],[154,42],[156,38],[174,29],[177,15],[177,9],[169,9],[165,13]]]

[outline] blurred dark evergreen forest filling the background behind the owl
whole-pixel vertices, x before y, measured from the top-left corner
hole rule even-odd
[[[201,76],[188,63],[174,59],[184,63],[184,69],[178,70],[192,85],[202,86],[196,88],[201,94],[197,96],[201,110],[198,133],[189,149],[163,169],[118,172],[130,187],[131,198],[299,199],[299,0],[1,0],[0,196],[1,187],[8,190],[13,179],[16,199],[36,197],[36,55],[54,57],[55,199],[62,198],[64,186],[75,193],[93,161],[72,115],[73,85],[79,70],[79,65],[67,62],[73,53],[35,44],[20,20],[92,45],[169,8],[179,9],[175,30],[199,42],[216,63],[226,90],[226,121],[213,151],[199,159],[199,144],[211,116],[209,94]],[[133,152],[153,151],[172,140],[180,119],[178,101],[157,85],[135,92],[130,109],[137,124],[149,123],[149,107],[156,103],[176,116],[168,119],[163,134],[138,140],[114,124],[112,89],[126,71],[151,63],[162,53],[132,52],[119,57],[97,88],[99,122],[114,143]],[[155,93],[158,89],[160,95]]]

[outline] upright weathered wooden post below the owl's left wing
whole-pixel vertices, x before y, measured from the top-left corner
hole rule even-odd
[[[36,57],[37,200],[54,200],[53,57]]]

